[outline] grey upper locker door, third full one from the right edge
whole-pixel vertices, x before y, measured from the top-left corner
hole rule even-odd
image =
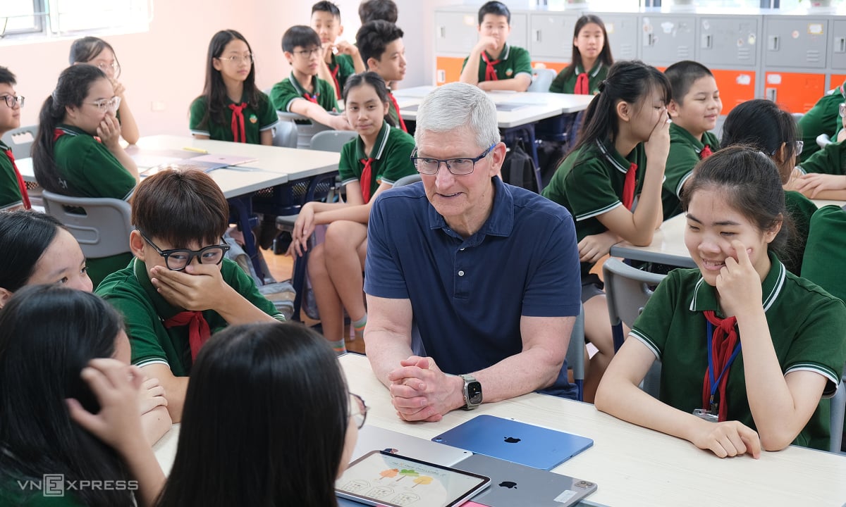
[[[650,65],[693,60],[696,20],[693,16],[645,14],[640,17],[640,57]]]

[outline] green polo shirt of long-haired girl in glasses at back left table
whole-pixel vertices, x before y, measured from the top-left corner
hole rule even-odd
[[[246,103],[242,113],[244,114],[244,137],[249,144],[261,144],[261,133],[270,130],[279,122],[270,98],[258,92],[258,106],[253,108],[250,106],[249,98],[246,94],[241,97],[239,103]],[[205,96],[197,97],[191,102],[191,117],[189,121],[189,128],[191,134],[207,135],[209,139],[217,141],[234,141],[235,136],[232,132],[232,116],[233,110],[229,109],[229,105],[235,102],[229,100],[227,97],[226,105],[223,106],[223,117],[206,117],[208,112],[208,101]],[[240,135],[240,134],[239,134]]]

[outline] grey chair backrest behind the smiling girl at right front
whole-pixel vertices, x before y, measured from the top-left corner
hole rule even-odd
[[[635,269],[619,259],[607,259],[602,264],[608,317],[614,328],[614,351],[623,346],[623,324],[631,326],[643,311],[646,301],[666,275],[656,275]]]

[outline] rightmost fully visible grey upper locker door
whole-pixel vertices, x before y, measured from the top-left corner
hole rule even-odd
[[[827,19],[773,16],[765,32],[766,67],[826,67]]]

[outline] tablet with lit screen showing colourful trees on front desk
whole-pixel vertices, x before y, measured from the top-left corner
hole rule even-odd
[[[374,450],[349,464],[335,493],[367,505],[452,507],[490,482],[473,472]]]

